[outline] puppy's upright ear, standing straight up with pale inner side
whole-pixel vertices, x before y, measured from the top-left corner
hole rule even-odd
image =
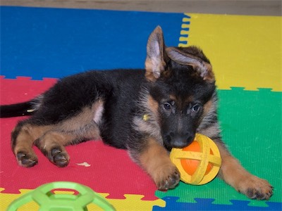
[[[149,81],[156,81],[166,68],[169,58],[166,54],[164,35],[161,27],[156,27],[147,42],[147,58],[145,61],[145,77]]]

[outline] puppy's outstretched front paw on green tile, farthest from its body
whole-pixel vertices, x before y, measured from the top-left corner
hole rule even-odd
[[[250,175],[240,183],[238,191],[247,197],[257,200],[269,200],[273,187],[265,179]]]

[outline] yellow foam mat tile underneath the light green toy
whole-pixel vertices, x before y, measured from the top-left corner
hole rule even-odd
[[[8,205],[10,205],[13,200],[16,200],[16,198],[19,198],[20,196],[23,196],[25,193],[28,193],[32,190],[27,189],[20,189],[20,193],[1,193],[1,191],[4,191],[4,188],[0,188],[0,210],[6,210]],[[64,194],[73,194],[73,192],[69,191],[59,191]],[[99,193],[101,196],[106,198],[109,196],[109,193]],[[142,200],[144,198],[143,195],[135,195],[135,194],[125,194],[125,199],[114,199],[114,198],[106,198],[106,200],[113,205],[116,210],[152,210],[153,206],[159,206],[159,207],[165,207],[166,202],[161,199],[157,200]],[[97,207],[97,205],[90,204],[87,205],[88,210],[102,210],[100,207]],[[39,210],[39,205],[35,202],[27,203],[26,205],[23,205],[18,209],[18,211],[34,211]]]

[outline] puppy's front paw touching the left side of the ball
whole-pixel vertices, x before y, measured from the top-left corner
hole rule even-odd
[[[157,178],[155,183],[159,190],[168,190],[175,188],[180,181],[180,172],[175,165],[160,167],[158,170]]]

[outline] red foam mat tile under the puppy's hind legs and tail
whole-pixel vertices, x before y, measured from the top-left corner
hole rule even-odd
[[[32,80],[28,77],[0,77],[1,105],[27,101],[51,87],[56,79]],[[20,167],[11,151],[11,131],[25,117],[0,119],[0,187],[4,193],[18,193],[20,188],[34,189],[51,181],[75,181],[90,186],[108,198],[124,198],[124,194],[145,195],[143,200],[155,200],[157,190],[152,179],[141,170],[124,150],[106,146],[102,141],[87,141],[67,146],[71,156],[68,167],[51,164],[37,149],[39,163],[35,167]],[[87,162],[90,166],[78,165]]]

